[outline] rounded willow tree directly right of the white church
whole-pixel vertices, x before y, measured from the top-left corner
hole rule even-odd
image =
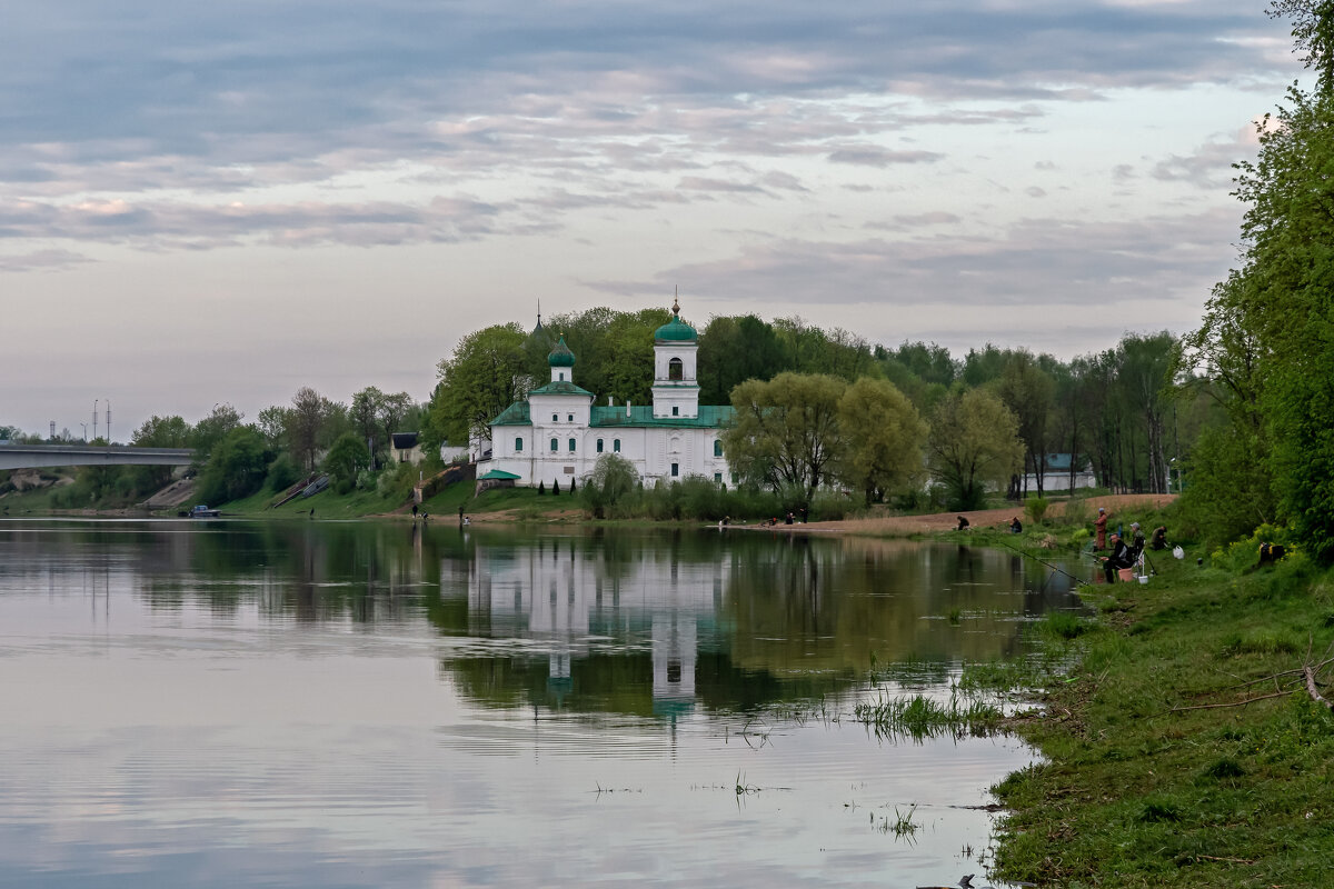
[[[774,490],[800,488],[804,502],[838,454],[839,399],[847,384],[827,375],[780,373],[732,389],[735,424],[723,432],[727,460]]]

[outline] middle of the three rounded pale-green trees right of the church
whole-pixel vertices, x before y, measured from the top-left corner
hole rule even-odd
[[[892,383],[860,377],[838,403],[843,437],[839,474],[866,494],[866,502],[922,478],[927,427]]]

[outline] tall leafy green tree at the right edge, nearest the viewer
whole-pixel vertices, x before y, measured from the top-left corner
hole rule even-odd
[[[1191,484],[1254,478],[1267,464],[1278,517],[1318,561],[1334,562],[1334,3],[1281,0],[1293,39],[1315,71],[1310,91],[1257,127],[1259,155],[1238,164],[1243,264],[1214,291],[1189,343],[1229,393],[1241,441],[1201,448]],[[1247,413],[1259,421],[1251,435]],[[1206,443],[1207,444],[1207,443]],[[1239,473],[1238,469],[1242,472]],[[1214,485],[1217,489],[1218,485]],[[1201,497],[1203,497],[1203,492]]]

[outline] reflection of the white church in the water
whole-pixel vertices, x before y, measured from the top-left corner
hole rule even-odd
[[[638,549],[638,548],[636,548]],[[716,637],[727,560],[683,562],[658,548],[608,560],[574,540],[482,546],[468,576],[470,632],[523,640],[548,660],[548,692],[571,690],[572,664],[630,652],[652,664],[652,712],[695,705],[702,641]],[[703,637],[703,640],[702,640]]]

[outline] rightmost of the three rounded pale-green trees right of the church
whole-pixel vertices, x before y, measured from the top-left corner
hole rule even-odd
[[[1019,421],[986,389],[955,391],[931,415],[927,456],[950,508],[976,509],[987,482],[1005,484],[1023,462]]]

